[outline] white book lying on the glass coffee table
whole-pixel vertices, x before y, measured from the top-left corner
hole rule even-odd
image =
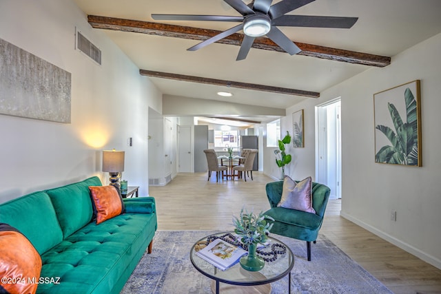
[[[216,239],[205,248],[196,252],[196,255],[213,264],[218,269],[225,271],[225,269],[236,264],[246,253],[248,253],[248,251],[238,246]]]

